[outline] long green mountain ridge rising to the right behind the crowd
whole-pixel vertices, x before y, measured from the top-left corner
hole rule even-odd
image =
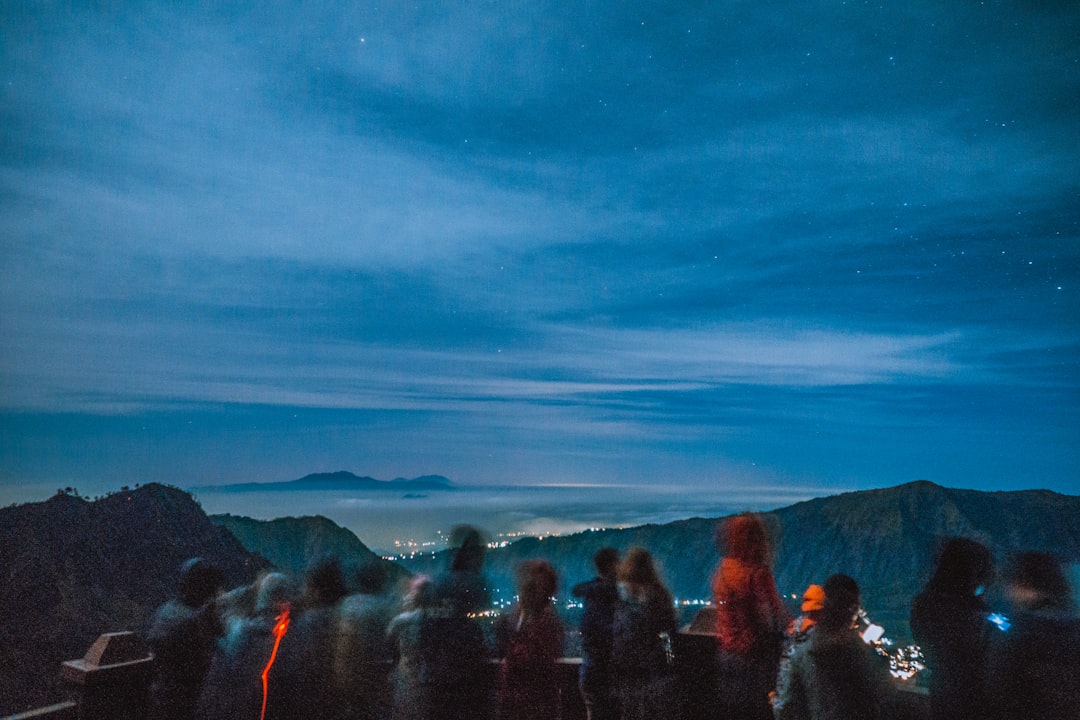
[[[929,579],[934,553],[949,536],[985,543],[999,563],[1021,551],[1047,551],[1080,562],[1080,497],[1049,490],[983,492],[944,488],[926,480],[882,490],[819,498],[761,514],[773,536],[777,585],[795,607],[811,583],[835,572],[854,578],[872,617],[894,638],[906,638],[910,598]],[[565,593],[595,574],[592,555],[605,545],[639,545],[659,560],[672,593],[710,599],[719,561],[716,530],[723,518],[596,530],[543,540],[527,538],[491,549],[485,571],[497,588],[512,588],[515,566],[550,560]],[[437,572],[446,553],[403,560],[413,572]],[[993,593],[991,601],[999,601]]]

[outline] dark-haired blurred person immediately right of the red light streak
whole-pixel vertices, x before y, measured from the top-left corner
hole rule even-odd
[[[338,558],[323,557],[308,569],[299,608],[278,657],[278,682],[287,689],[278,706],[282,720],[335,720],[343,715],[343,701],[334,682],[334,652],[338,603],[345,594]]]

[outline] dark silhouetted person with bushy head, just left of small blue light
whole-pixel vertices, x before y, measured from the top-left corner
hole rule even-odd
[[[982,596],[993,571],[985,545],[953,538],[912,601],[912,635],[926,655],[932,720],[982,718],[990,709],[986,653],[994,628]]]

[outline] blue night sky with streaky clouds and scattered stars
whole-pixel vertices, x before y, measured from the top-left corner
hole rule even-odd
[[[0,499],[1080,492],[1077,3],[0,19]]]

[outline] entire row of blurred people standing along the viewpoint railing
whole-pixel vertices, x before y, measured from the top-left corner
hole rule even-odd
[[[213,565],[189,560],[175,599],[147,631],[154,652],[151,720],[558,720],[565,627],[555,568],[522,562],[517,600],[485,634],[486,544],[455,532],[445,572],[388,587],[382,565],[346,578],[323,558],[302,584],[269,573],[222,592]],[[710,630],[715,667],[694,717],[873,720],[893,683],[855,630],[860,587],[846,574],[810,585],[792,619],[771,570],[769,533],[754,514],[718,533]],[[572,587],[583,603],[580,698],[589,720],[676,720],[677,617],[652,555],[605,547],[596,575]],[[1008,620],[983,599],[990,552],[969,539],[942,547],[913,599],[912,630],[929,673],[932,720],[1080,717],[1080,621],[1061,566],[1028,553],[1010,565]],[[1001,629],[1007,628],[1007,629]]]

